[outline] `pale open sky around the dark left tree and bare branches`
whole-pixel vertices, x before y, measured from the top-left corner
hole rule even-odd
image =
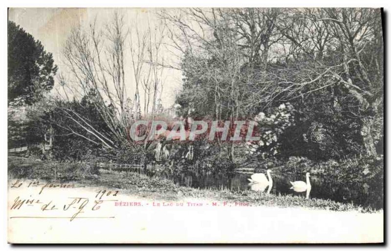
[[[19,24],[26,32],[30,33],[36,40],[42,42],[44,49],[53,54],[55,64],[59,66],[59,72],[65,76],[71,77],[66,71],[62,51],[64,43],[70,35],[72,28],[87,26],[95,20],[98,28],[104,28],[110,21],[116,9],[113,8],[10,8],[8,10],[8,19]],[[117,9],[124,15],[125,23],[129,27],[137,25],[141,29],[147,27],[148,23],[154,25],[158,17],[155,14],[156,9],[146,8],[120,8]],[[134,30],[134,29],[133,29]],[[134,33],[134,32],[133,32]],[[134,35],[134,34],[133,34]],[[164,57],[167,61],[177,64],[177,57],[172,56],[169,50],[164,50]],[[125,78],[129,89],[128,97],[134,97],[134,75],[131,67],[129,49],[125,51]],[[181,72],[174,69],[165,69],[162,79],[164,80],[163,91],[161,95],[162,105],[165,108],[174,104],[175,93],[181,87]],[[52,92],[57,93],[58,80],[55,78],[55,86]],[[140,87],[141,104],[144,102],[143,89]]]

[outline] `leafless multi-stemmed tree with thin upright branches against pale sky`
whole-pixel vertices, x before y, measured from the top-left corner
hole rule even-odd
[[[88,29],[74,29],[65,43],[63,55],[83,95],[95,93],[94,105],[108,125],[111,137],[124,138],[130,126],[129,99],[126,95],[124,50],[128,33],[123,17],[115,12],[112,23],[98,30],[96,22]],[[94,135],[105,147],[114,147],[115,140],[101,137],[80,114],[64,109],[65,115]],[[107,133],[106,133],[107,134]]]

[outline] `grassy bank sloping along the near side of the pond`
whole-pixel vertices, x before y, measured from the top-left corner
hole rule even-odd
[[[151,178],[140,173],[98,170],[93,165],[40,161],[34,158],[16,156],[8,157],[8,178],[41,179],[53,182],[70,181],[86,186],[120,188],[126,190],[129,194],[156,200],[175,201],[184,198],[205,198],[212,201],[247,202],[251,205],[373,212],[370,208],[331,200],[316,198],[306,200],[302,196],[265,194],[251,190],[229,191],[187,188],[177,186],[168,179]]]

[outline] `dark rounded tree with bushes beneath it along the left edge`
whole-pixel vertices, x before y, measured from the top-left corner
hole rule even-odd
[[[24,118],[27,105],[42,100],[53,88],[57,66],[41,42],[19,25],[8,21],[8,146],[10,148],[39,144],[43,134]]]

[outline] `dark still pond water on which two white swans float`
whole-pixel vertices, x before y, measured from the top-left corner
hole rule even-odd
[[[266,173],[266,172],[263,172]],[[182,171],[180,173],[165,175],[173,180],[175,184],[192,188],[215,188],[229,190],[257,190],[267,191],[265,187],[251,184],[248,179],[252,173],[217,173],[212,174],[206,171]],[[290,189],[289,181],[304,181],[305,173],[281,173],[273,172],[272,194],[291,194],[293,196],[305,196],[304,193],[297,193]],[[341,184],[324,177],[311,174],[310,198],[331,199],[343,203],[354,203],[363,207],[370,206],[372,209],[383,208],[382,188],[379,184]]]

